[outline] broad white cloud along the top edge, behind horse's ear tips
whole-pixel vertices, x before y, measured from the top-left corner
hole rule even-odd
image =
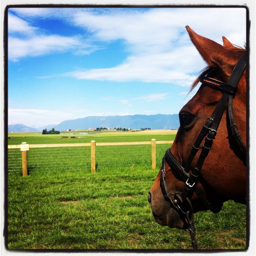
[[[128,8],[101,14],[84,9],[74,13],[73,22],[91,32],[95,40],[121,39],[134,52],[162,52],[179,41],[188,43],[186,25],[212,40],[221,41],[222,36],[233,35],[234,43],[243,44],[245,14],[244,8],[151,8],[144,12]],[[186,41],[182,40],[183,35]]]

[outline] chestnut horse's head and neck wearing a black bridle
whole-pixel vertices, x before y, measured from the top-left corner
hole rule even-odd
[[[192,235],[193,212],[219,212],[227,200],[246,204],[246,50],[225,37],[222,46],[186,29],[208,67],[180,110],[180,128],[148,201],[158,224],[189,228]]]

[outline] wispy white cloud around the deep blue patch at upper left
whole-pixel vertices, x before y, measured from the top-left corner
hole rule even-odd
[[[60,10],[64,9],[60,8]],[[62,11],[58,12],[58,9],[54,10],[59,15],[62,13]],[[18,13],[22,18],[15,16],[12,12]],[[12,12],[8,13],[9,60],[18,61],[20,58],[56,54],[70,50],[77,55],[86,55],[103,49],[97,44],[90,44],[80,34],[76,36],[49,34],[46,30],[30,25],[31,17],[56,16],[51,8],[13,8]],[[68,19],[67,15],[66,13],[66,20]]]

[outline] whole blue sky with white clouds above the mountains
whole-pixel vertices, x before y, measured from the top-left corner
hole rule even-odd
[[[9,8],[8,124],[177,114],[206,66],[186,25],[246,41],[244,8]]]

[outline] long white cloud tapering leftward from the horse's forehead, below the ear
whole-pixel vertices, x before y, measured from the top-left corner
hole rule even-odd
[[[188,54],[188,59],[180,56]],[[194,58],[193,58],[194,57]],[[184,46],[168,53],[148,53],[128,57],[122,64],[113,68],[76,70],[64,75],[76,79],[108,80],[116,82],[141,81],[165,82],[179,86],[190,86],[205,64],[192,46]]]

